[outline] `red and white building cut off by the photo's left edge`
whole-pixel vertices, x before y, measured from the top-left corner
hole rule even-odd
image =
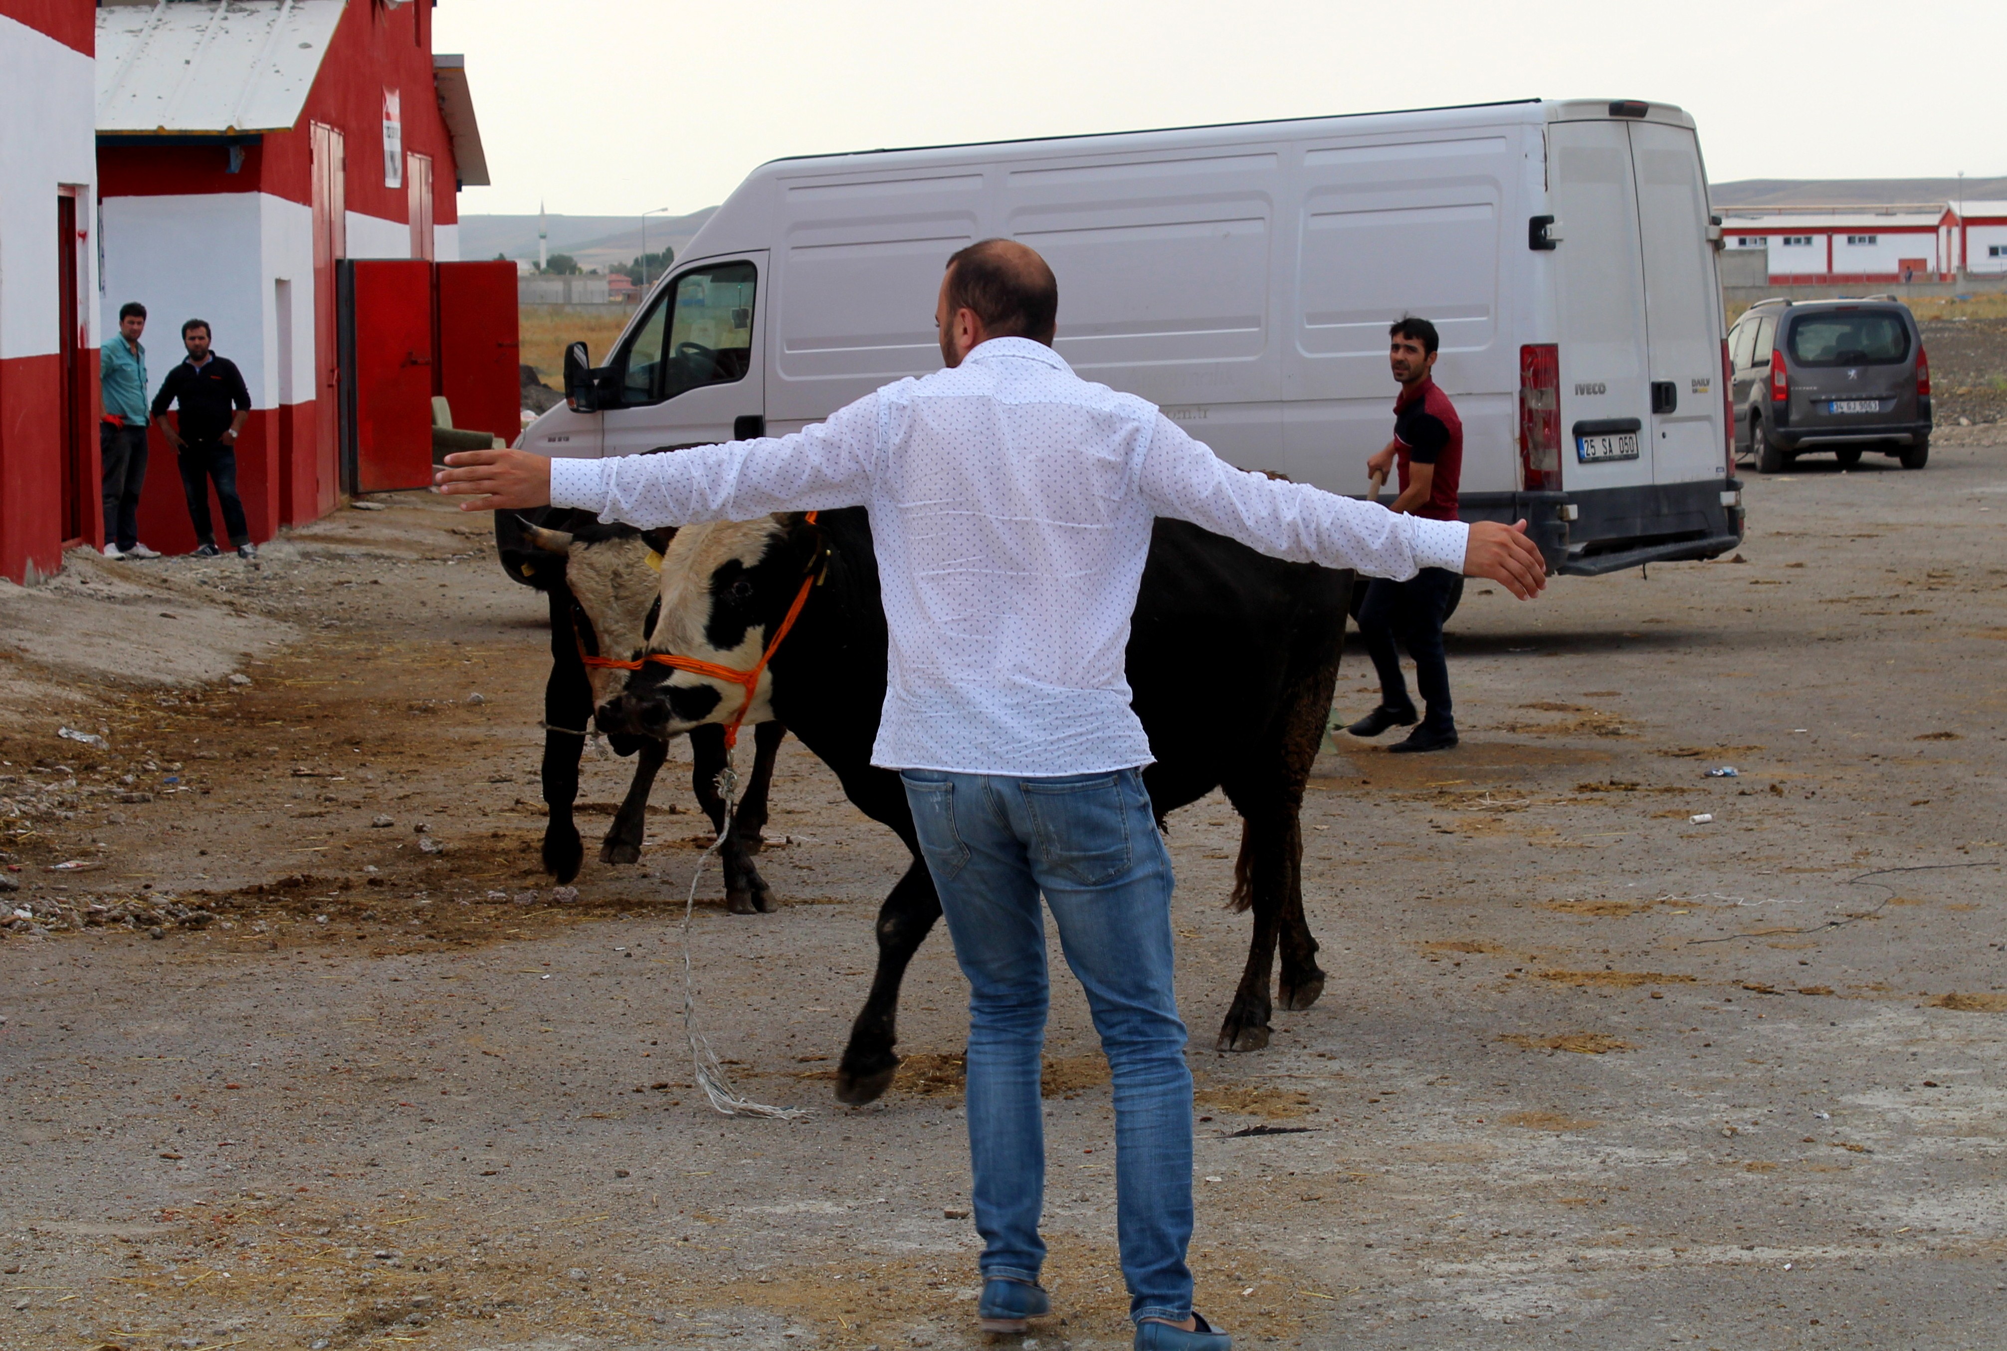
[[[0,0],[0,576],[102,544],[90,0]]]

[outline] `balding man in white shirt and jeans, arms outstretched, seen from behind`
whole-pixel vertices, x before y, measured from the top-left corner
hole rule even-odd
[[[967,1118],[983,1331],[1050,1309],[1040,895],[1114,1072],[1122,1271],[1138,1351],[1226,1351],[1192,1313],[1192,1078],[1172,996],[1172,869],[1124,679],[1150,522],[1373,576],[1425,566],[1545,586],[1517,526],[1395,516],[1220,462],[1148,401],[1052,351],[1058,283],[1032,249],[971,245],[935,319],[945,369],[783,438],[674,456],[448,456],[466,510],[552,502],[636,526],[867,506],[891,638],[873,763],[901,773],[969,978]]]

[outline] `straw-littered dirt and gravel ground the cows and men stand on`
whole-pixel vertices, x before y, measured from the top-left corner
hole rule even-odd
[[[1734,562],[1473,586],[1459,751],[1339,735],[1305,809],[1333,980],[1260,1054],[1210,1050],[1238,831],[1172,817],[1194,1265],[1240,1345],[1997,1345],[2007,438],[1748,500]],[[719,1054],[811,1114],[710,1112],[700,819],[664,781],[640,867],[536,873],[544,642],[419,496],[255,570],[0,588],[0,1347],[977,1345],[941,935],[899,1086],[827,1082],[895,841],[789,745],[783,909],[710,875],[692,931]],[[1064,982],[1050,1042],[1036,1341],[1126,1347]]]

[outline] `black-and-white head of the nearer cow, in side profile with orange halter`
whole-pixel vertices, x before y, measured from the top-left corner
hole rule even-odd
[[[650,652],[751,670],[801,586],[801,550],[789,548],[799,518],[684,526],[662,554],[660,612]],[[773,670],[761,674],[745,723],[773,719]],[[731,723],[745,687],[648,662],[618,699],[600,705],[606,731],[674,737],[702,723]]]

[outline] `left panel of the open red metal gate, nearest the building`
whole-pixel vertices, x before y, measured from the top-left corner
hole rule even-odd
[[[432,263],[343,263],[341,373],[351,492],[432,482]]]

